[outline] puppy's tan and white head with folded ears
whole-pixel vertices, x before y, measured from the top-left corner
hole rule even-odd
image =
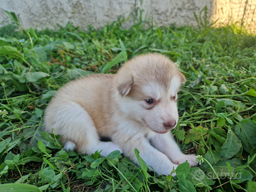
[[[120,110],[158,133],[178,122],[177,98],[186,78],[164,55],[147,54],[129,60],[114,81]]]

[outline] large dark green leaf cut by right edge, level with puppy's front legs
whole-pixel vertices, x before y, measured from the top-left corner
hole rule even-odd
[[[238,135],[243,149],[248,153],[256,147],[256,125],[251,120],[238,122],[235,126],[235,134]]]

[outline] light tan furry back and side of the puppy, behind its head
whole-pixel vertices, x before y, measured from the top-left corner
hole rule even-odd
[[[85,78],[73,80],[64,87],[60,88],[50,101],[46,108],[46,116],[44,120],[44,129],[46,132],[51,132],[54,128],[55,133],[59,134],[58,129],[61,127],[53,127],[58,121],[58,115],[61,111],[72,110],[69,106],[73,103],[80,105],[90,117],[97,124],[97,119],[107,114],[106,105],[103,103],[112,100],[112,80],[114,75],[111,74],[97,74],[89,75]],[[66,117],[69,118],[69,117]],[[101,125],[97,125],[100,127]]]

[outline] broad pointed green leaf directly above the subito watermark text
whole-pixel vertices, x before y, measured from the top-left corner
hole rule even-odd
[[[235,154],[238,154],[240,149],[242,148],[242,144],[238,136],[229,128],[228,129],[228,137],[225,140],[225,143],[221,147],[220,154],[225,159],[230,159]]]

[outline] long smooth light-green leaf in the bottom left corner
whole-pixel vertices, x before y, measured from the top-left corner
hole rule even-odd
[[[7,183],[0,185],[1,192],[41,192],[41,190],[25,183]]]

